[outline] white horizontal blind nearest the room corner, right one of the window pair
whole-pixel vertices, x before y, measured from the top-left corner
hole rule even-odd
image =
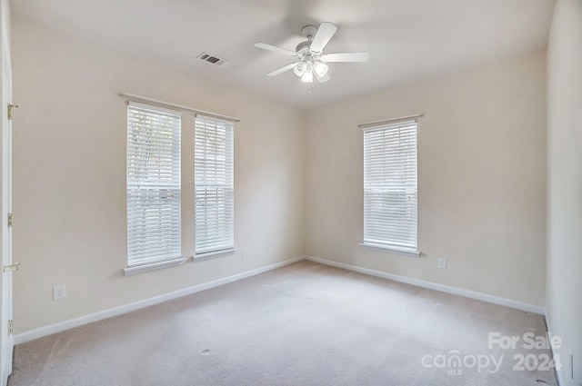
[[[196,254],[234,248],[234,127],[196,116]]]

